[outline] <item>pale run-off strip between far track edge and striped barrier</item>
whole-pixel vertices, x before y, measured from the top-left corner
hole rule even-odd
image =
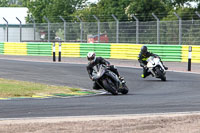
[[[4,60],[18,60],[18,61],[30,61],[30,62],[48,62],[48,63],[68,63],[68,64],[87,64],[86,58],[76,57],[63,57],[62,62],[53,62],[50,56],[16,56],[16,55],[0,55],[0,59]],[[141,68],[137,60],[128,59],[107,59],[111,64],[118,67],[129,67],[129,68]],[[168,66],[168,71],[173,72],[185,72],[200,74],[200,63],[192,63],[191,71],[187,71],[187,62],[164,62]]]

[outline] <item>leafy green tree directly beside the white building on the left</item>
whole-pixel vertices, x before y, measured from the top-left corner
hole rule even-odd
[[[23,6],[29,9],[29,16],[35,18],[38,23],[46,22],[46,16],[51,22],[61,21],[58,16],[65,19],[77,9],[85,6],[86,0],[23,0]]]

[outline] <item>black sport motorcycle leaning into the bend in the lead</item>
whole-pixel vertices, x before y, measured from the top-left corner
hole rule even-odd
[[[118,95],[118,93],[127,94],[129,91],[125,81],[121,81],[106,65],[97,64],[92,75],[102,89],[113,95]]]

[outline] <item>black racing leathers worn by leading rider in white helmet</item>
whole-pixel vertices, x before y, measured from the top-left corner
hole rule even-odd
[[[120,77],[119,76],[119,72],[117,71],[117,69],[115,68],[114,65],[110,65],[110,62],[108,62],[107,60],[105,60],[102,57],[96,57],[95,61],[91,61],[87,65],[87,71],[88,71],[88,74],[89,74],[89,77],[90,77],[91,80],[95,81],[95,79],[94,79],[94,77],[92,75],[92,72],[94,71],[94,66],[96,66],[97,64],[104,64],[104,65],[108,66],[109,70],[111,70],[118,77]],[[98,90],[98,89],[102,89],[102,88],[95,81],[94,84],[93,84],[93,89]]]

